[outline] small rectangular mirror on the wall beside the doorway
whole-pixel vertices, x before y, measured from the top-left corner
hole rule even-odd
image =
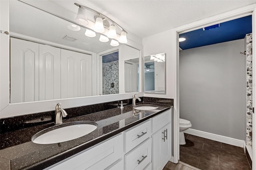
[[[144,92],[165,93],[165,53],[143,57]]]

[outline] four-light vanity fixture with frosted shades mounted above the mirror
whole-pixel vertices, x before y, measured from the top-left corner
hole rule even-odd
[[[104,16],[103,14],[101,14],[100,12],[98,12],[96,10],[93,10],[93,9],[83,6],[81,4],[77,4],[77,3],[74,3],[74,4],[79,7],[78,15],[76,17],[76,23],[78,23],[82,26],[86,26],[88,24],[87,17],[86,17],[87,24],[84,25],[82,23],[82,21],[85,21],[85,17],[82,18],[81,16],[86,16],[85,10],[92,11],[92,12],[96,13],[96,15],[94,16],[94,21],[95,21],[94,27],[90,28],[90,29],[93,29],[95,32],[101,33],[102,36],[105,35],[105,36],[108,36],[108,38],[111,38],[112,40],[115,39],[115,40],[111,41],[111,43],[110,43],[110,45],[112,45],[112,46],[114,46],[114,45],[117,46],[116,44],[119,45],[118,42],[127,43],[127,37],[126,37],[127,32],[116,22],[114,22],[113,20]],[[112,24],[110,25],[109,23],[112,23]],[[121,30],[120,38],[118,38],[118,36],[116,34],[116,27],[118,27]],[[106,34],[106,30],[104,28],[109,29],[108,34]],[[102,36],[100,36],[101,37],[100,41],[108,42],[107,39]],[[92,37],[92,36],[90,36],[90,37]]]

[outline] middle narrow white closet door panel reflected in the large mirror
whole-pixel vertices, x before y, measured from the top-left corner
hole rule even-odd
[[[39,100],[60,99],[60,48],[39,44]]]

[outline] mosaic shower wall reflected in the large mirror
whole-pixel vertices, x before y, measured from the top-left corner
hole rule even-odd
[[[119,66],[118,61],[106,63],[106,95],[119,93]],[[111,87],[114,83],[114,87]]]

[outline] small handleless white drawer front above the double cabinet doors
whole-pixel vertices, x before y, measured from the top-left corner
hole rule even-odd
[[[155,133],[160,128],[164,127],[171,121],[171,114],[172,111],[168,110],[160,115],[157,115],[156,117],[152,118],[152,133]]]

